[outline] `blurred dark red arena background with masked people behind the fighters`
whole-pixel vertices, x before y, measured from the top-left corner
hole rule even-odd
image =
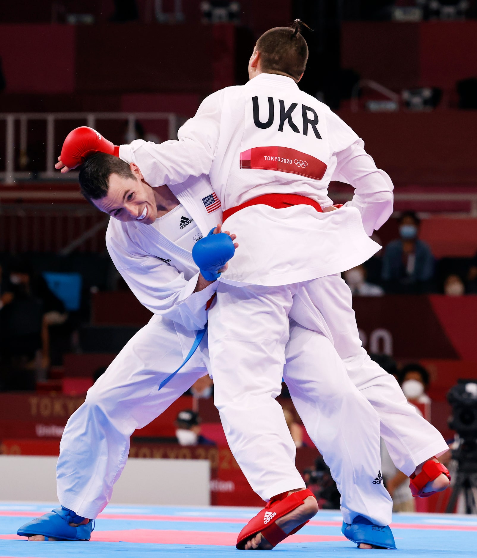
[[[363,345],[454,443],[446,393],[477,378],[476,0],[25,0],[0,5],[2,453],[57,455],[68,416],[151,316],[110,261],[108,219],[75,172],[54,170],[66,134],[177,137],[206,95],[247,81],[258,36],[296,17],[314,30],[300,87],[395,185],[395,212],[373,236],[383,248],[343,273]],[[330,185],[335,203],[352,194]],[[307,483],[337,507],[285,384],[279,400]],[[227,451],[208,377],[131,445],[136,457],[209,459],[214,503],[257,503]],[[396,509],[413,509],[384,448],[382,466]],[[429,501],[422,509],[445,507]]]

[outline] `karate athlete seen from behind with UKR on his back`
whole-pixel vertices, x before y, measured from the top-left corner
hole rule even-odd
[[[133,142],[129,155],[146,182],[172,190],[189,176],[209,175],[224,225],[240,239],[209,312],[209,351],[215,403],[252,486],[258,459],[280,459],[280,448],[264,444],[258,429],[284,420],[273,394],[288,318],[313,328],[318,310],[351,378],[368,389],[398,468],[413,475],[423,467],[419,482],[413,480],[420,492],[444,489],[449,479],[434,456],[447,445],[430,425],[422,422],[416,430],[397,384],[370,362],[338,275],[377,251],[364,236],[391,215],[391,180],[338,116],[298,89],[306,59],[297,26],[267,31],[250,58],[246,85],[206,98],[179,130],[179,141]],[[350,183],[355,195],[327,212],[330,180]],[[391,440],[392,430],[401,436]],[[353,443],[365,451],[366,442]]]

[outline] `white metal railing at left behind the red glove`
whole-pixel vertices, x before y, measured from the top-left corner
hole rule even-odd
[[[30,172],[16,170],[15,122],[20,121],[20,153],[26,153],[28,147],[27,123],[29,120],[46,121],[46,165],[43,172],[38,173],[42,180],[65,180],[65,175],[55,171],[55,121],[57,120],[83,120],[86,126],[95,127],[98,120],[119,120],[128,122],[128,136],[134,137],[134,125],[137,120],[165,120],[168,123],[168,139],[177,138],[179,117],[171,112],[52,112],[52,113],[0,113],[0,121],[6,122],[5,127],[5,170],[0,172],[3,184],[15,184],[17,179],[28,179]]]

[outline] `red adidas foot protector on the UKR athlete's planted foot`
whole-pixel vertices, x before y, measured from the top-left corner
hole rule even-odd
[[[300,492],[293,492],[290,496],[286,496],[287,492],[278,494],[268,502],[268,504],[257,513],[257,515],[250,519],[245,527],[240,531],[235,545],[239,550],[244,550],[245,543],[257,533],[267,539],[272,546],[277,546],[284,538],[293,535],[305,526],[308,521],[295,527],[290,533],[285,533],[276,525],[277,519],[286,516],[287,513],[293,511],[298,506],[302,506],[303,501],[309,496],[315,498],[315,494],[310,490],[300,490]]]

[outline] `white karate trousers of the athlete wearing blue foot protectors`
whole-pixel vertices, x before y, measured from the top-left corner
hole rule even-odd
[[[362,493],[358,483],[365,470],[374,472],[379,467],[376,455],[370,451],[371,446],[378,445],[379,448],[376,413],[346,377],[343,363],[329,339],[297,324],[291,326],[291,332],[286,348],[287,354],[290,352],[290,363],[285,379],[292,391],[296,384],[293,401],[303,413],[303,422],[318,448],[325,454],[330,453],[327,448],[331,444],[335,450],[333,455],[330,454],[330,463],[337,470],[335,476],[344,494],[344,502],[349,502],[350,506],[356,504],[354,514],[363,514],[373,521],[377,521],[377,514],[371,508],[377,508],[378,515],[384,516],[386,513],[379,508],[386,508],[389,504],[390,515],[391,502],[382,485],[374,487],[375,490],[368,495]],[[97,517],[104,509],[126,464],[132,432],[155,419],[197,378],[207,373],[207,339],[176,377],[158,391],[160,382],[179,367],[182,358],[174,324],[153,316],[89,389],[85,403],[70,417],[61,440],[57,492],[63,506],[89,518]],[[306,373],[305,367],[310,368]],[[279,376],[280,383],[282,374]],[[320,410],[318,400],[324,405]],[[267,499],[285,490],[305,486],[294,465],[295,445],[283,420],[283,412],[276,401],[273,403],[279,411],[280,421],[275,426],[273,421],[268,422],[271,427],[262,435],[262,440],[267,448],[273,445],[280,448],[278,459],[268,461],[262,459],[262,453],[257,455],[257,466],[263,468],[258,473],[261,479],[257,492]],[[355,429],[348,429],[350,436],[368,435],[364,432],[364,422],[355,421],[354,415],[368,415],[368,425],[374,422],[373,443],[366,445],[364,452],[350,453],[339,432],[348,417],[356,424]],[[255,430],[254,425],[247,436],[253,439]],[[243,466],[240,462],[239,465]],[[253,482],[246,466],[243,470]],[[366,484],[364,482],[365,488]],[[344,513],[349,516],[346,508]],[[348,516],[345,519],[349,522]],[[383,524],[386,522],[389,522],[388,517]]]

